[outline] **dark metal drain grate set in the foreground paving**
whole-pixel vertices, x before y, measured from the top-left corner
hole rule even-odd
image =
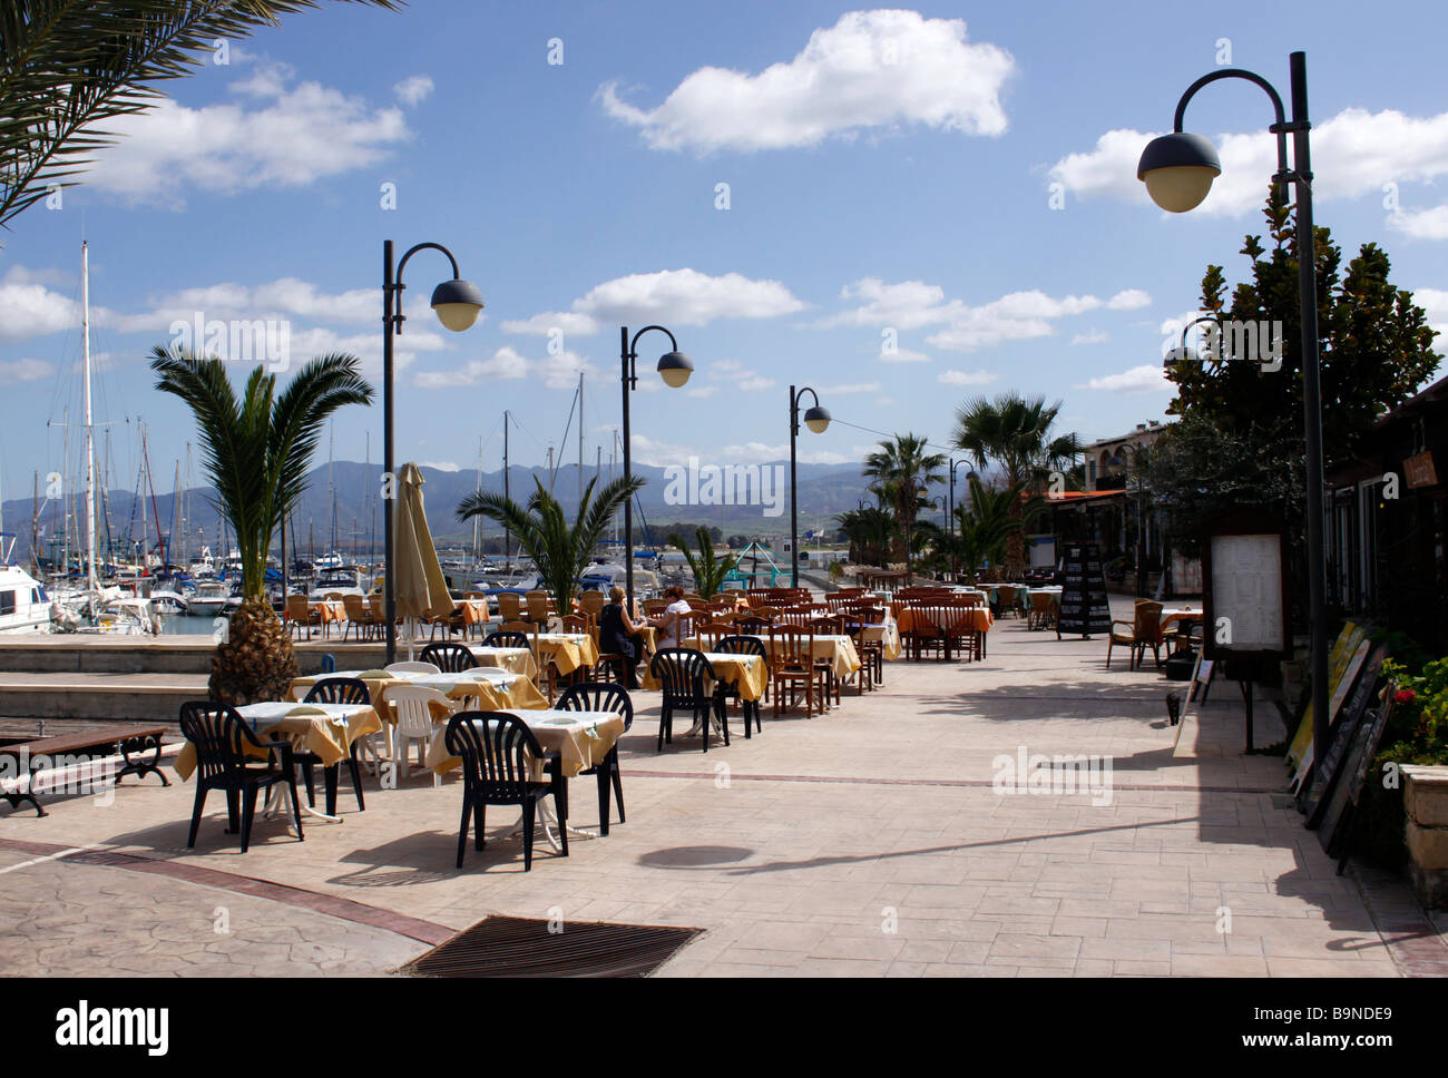
[[[702,929],[488,917],[414,958],[413,977],[647,977]]]

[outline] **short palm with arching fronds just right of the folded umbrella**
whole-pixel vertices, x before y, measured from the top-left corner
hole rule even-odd
[[[511,531],[523,551],[533,559],[544,590],[553,596],[555,608],[566,614],[573,609],[578,577],[588,567],[594,547],[608,530],[614,514],[643,488],[644,480],[637,476],[615,479],[595,499],[594,486],[598,479],[589,479],[578,502],[573,527],[569,527],[563,506],[547,492],[543,480],[534,476],[533,482],[537,489],[527,505],[518,505],[501,493],[475,491],[458,505],[458,518],[466,521],[487,517]]]

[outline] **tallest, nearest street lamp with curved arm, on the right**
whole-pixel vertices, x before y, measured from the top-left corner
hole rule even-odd
[[[1312,146],[1308,122],[1308,54],[1293,52],[1289,59],[1292,120],[1283,113],[1281,97],[1261,75],[1239,68],[1225,68],[1202,75],[1177,101],[1171,135],[1147,143],[1137,165],[1137,178],[1163,210],[1186,213],[1206,198],[1212,181],[1221,175],[1222,162],[1212,143],[1182,130],[1186,106],[1197,90],[1221,78],[1244,78],[1261,87],[1271,98],[1274,123],[1267,129],[1277,136],[1277,172],[1283,197],[1292,184],[1297,201],[1297,298],[1302,304],[1302,412],[1308,456],[1308,605],[1312,631],[1312,747],[1321,765],[1328,751],[1328,609],[1326,557],[1322,547],[1322,360],[1318,350],[1318,272],[1316,242],[1312,233]],[[1287,136],[1292,135],[1292,169],[1287,168]]]

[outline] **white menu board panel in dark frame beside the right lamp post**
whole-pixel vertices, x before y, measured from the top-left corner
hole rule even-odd
[[[1283,647],[1281,537],[1212,537],[1212,618],[1226,651]],[[1222,618],[1228,621],[1224,622]]]

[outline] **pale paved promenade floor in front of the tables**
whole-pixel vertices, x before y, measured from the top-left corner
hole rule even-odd
[[[705,929],[660,969],[676,977],[1448,972],[1448,920],[1396,880],[1337,875],[1280,796],[1281,761],[1241,755],[1235,687],[1176,745],[1179,686],[1119,650],[1108,671],[1105,651],[1005,621],[983,663],[888,664],[882,690],[814,719],[766,706],[762,735],[707,755],[679,738],[654,754],[659,697],[639,693],[628,823],[568,860],[540,842],[527,875],[510,810],[453,868],[456,780],[368,789],[365,813],[343,789],[342,823],[298,844],[261,822],[245,857],[220,797],[185,849],[193,790],[174,777],[46,819],[0,809],[0,969],[385,972],[505,913]],[[1283,737],[1257,716],[1258,744]],[[1109,790],[1051,770],[995,789],[998,757],[1021,754],[1109,757]],[[572,813],[597,823],[591,778]]]

